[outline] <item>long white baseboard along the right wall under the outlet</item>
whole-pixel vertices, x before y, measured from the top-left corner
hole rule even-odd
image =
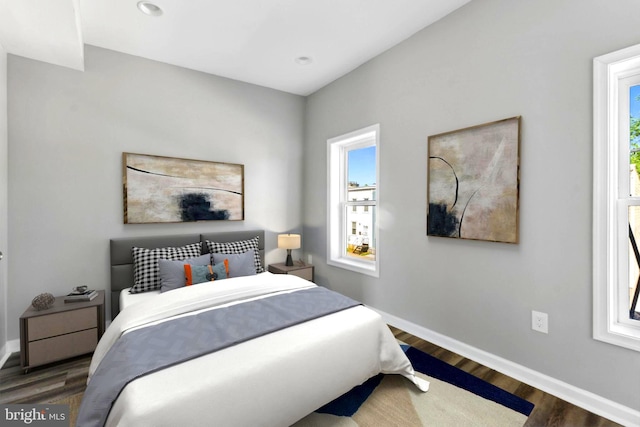
[[[373,307],[370,308],[380,313],[388,324],[415,335],[418,338],[453,351],[467,359],[471,359],[511,378],[566,400],[601,417],[608,418],[611,421],[628,427],[640,427],[640,411],[636,411],[635,409],[598,396],[597,394],[582,390],[525,366],[518,365],[507,359],[454,340],[430,329],[416,325],[415,323],[408,322]]]

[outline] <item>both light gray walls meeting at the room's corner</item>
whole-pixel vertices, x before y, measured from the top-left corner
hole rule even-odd
[[[640,409],[638,354],[591,338],[591,61],[640,43],[636,12],[634,0],[474,0],[310,96],[306,112],[301,97],[90,46],[84,73],[9,55],[7,338],[36,294],[106,288],[109,238],[260,227],[275,248],[304,223],[321,284]],[[427,238],[427,137],[514,115],[520,243]],[[325,265],[326,140],[378,122],[374,279]],[[122,224],[123,151],[243,163],[246,220]],[[0,197],[6,185],[0,174]],[[548,335],[531,331],[532,309],[549,313]]]

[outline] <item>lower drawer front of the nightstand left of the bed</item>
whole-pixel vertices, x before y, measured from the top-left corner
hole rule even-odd
[[[36,366],[80,354],[91,353],[98,345],[98,329],[74,332],[29,343],[29,365]]]

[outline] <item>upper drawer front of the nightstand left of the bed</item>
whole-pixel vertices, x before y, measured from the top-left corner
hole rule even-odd
[[[76,304],[76,303],[69,303]],[[27,319],[29,341],[98,327],[97,307],[65,311]]]

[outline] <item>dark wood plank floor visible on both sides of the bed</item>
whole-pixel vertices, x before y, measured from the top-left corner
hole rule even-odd
[[[535,408],[525,427],[619,426],[399,329],[391,329],[397,339],[533,403]],[[0,403],[52,403],[81,393],[85,388],[90,360],[90,355],[77,357],[23,374],[20,357],[14,354],[0,370]]]

